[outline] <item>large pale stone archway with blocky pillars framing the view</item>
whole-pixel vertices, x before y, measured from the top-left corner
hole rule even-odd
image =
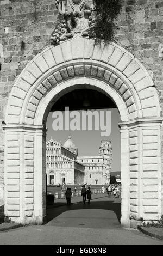
[[[5,216],[46,221],[46,118],[74,88],[108,95],[121,116],[121,226],[161,216],[160,106],[153,81],[116,44],[95,45],[77,35],[38,54],[12,88],[5,123]]]

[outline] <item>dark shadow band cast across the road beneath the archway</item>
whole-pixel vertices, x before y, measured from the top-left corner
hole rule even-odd
[[[108,210],[108,218],[115,218],[115,215],[117,217],[117,220],[120,224],[120,218],[121,218],[121,203],[115,202],[115,201],[91,201],[91,204],[88,205],[83,204],[83,202],[74,203],[71,206],[67,206],[64,203],[56,203],[57,207],[54,205],[48,205],[47,206],[47,223],[54,220],[54,218],[57,218],[59,215],[63,214],[66,211],[74,211],[74,210],[82,210],[81,212],[77,211],[77,214],[81,214],[84,212],[83,210],[86,209],[101,209],[101,210]],[[60,207],[61,206],[61,207]],[[112,211],[112,212],[111,212]],[[71,212],[69,213],[71,215]],[[103,216],[102,216],[103,217]]]

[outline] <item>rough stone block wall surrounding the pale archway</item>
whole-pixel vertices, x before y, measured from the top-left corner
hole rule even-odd
[[[4,184],[4,132],[1,124],[11,88],[30,60],[50,44],[49,38],[60,19],[55,0],[0,1],[0,185]],[[117,24],[117,44],[139,59],[151,75],[163,117],[162,0],[124,0]],[[163,167],[163,147],[161,163]]]

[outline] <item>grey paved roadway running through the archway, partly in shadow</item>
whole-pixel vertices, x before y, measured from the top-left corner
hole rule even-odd
[[[80,198],[81,200],[81,198]],[[83,205],[49,207],[46,225],[0,233],[0,245],[163,245],[138,230],[120,228],[120,199],[97,198]]]

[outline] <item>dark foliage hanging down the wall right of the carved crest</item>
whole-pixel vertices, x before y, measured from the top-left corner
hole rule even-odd
[[[115,41],[115,31],[118,28],[115,22],[121,12],[122,0],[93,0],[96,11],[96,22],[90,28],[90,37],[105,42]]]

